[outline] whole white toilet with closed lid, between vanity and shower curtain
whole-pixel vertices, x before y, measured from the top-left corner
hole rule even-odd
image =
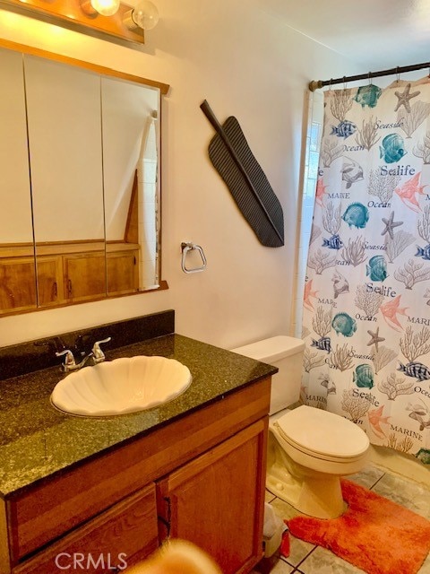
[[[339,517],[346,509],[340,476],[366,464],[369,439],[339,414],[297,403],[305,344],[278,335],[232,349],[278,367],[272,378],[266,487],[309,516]]]

